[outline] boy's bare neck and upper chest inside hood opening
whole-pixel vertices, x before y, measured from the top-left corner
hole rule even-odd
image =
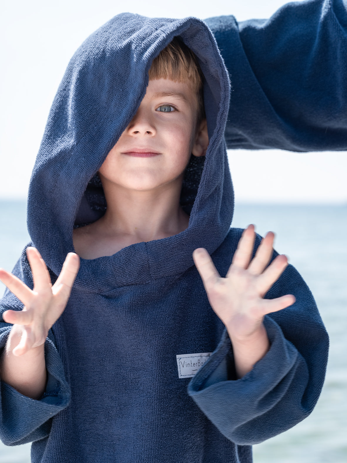
[[[107,203],[105,215],[77,229],[74,236],[75,249],[81,257],[112,255],[130,244],[167,238],[188,227],[189,216],[180,207],[182,178],[148,191],[124,188],[105,178],[102,183]],[[87,253],[79,242],[81,238],[88,240]],[[97,249],[92,250],[94,242]]]

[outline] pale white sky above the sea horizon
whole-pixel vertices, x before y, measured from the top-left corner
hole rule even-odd
[[[0,198],[25,198],[44,126],[69,59],[87,36],[114,15],[205,19],[268,18],[281,0],[19,0],[0,19]],[[347,152],[229,151],[238,201],[347,202]],[[250,168],[251,166],[251,168]]]

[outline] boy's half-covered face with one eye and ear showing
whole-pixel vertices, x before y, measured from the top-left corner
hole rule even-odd
[[[198,102],[187,82],[149,81],[141,104],[99,169],[104,183],[151,190],[180,181],[191,153],[203,156],[206,122],[197,127]]]

